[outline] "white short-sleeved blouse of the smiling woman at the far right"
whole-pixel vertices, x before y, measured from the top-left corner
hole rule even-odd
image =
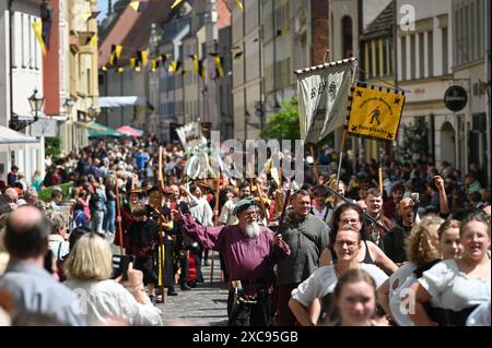
[[[467,275],[459,271],[453,259],[444,260],[424,272],[418,281],[443,309],[461,311],[490,301],[490,278]]]

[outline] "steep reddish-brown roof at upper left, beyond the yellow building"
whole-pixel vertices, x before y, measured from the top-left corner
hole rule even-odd
[[[142,12],[136,12],[128,5],[130,0],[120,0],[118,13],[113,22],[101,33],[98,48],[99,68],[107,63],[112,53],[112,45],[121,45],[119,63],[125,64],[138,50],[149,47],[151,24],[160,27],[161,23],[171,17],[173,0],[149,1],[149,7]]]

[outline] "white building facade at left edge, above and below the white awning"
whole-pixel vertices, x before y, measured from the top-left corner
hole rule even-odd
[[[44,57],[32,24],[40,21],[40,0],[0,2],[0,127],[14,128],[21,137],[30,135],[32,123],[27,98],[34,89],[44,93]],[[42,109],[38,116],[45,115]],[[3,134],[2,134],[3,135]],[[0,180],[5,180],[12,165],[30,181],[35,170],[44,175],[44,139],[30,143],[0,144]]]

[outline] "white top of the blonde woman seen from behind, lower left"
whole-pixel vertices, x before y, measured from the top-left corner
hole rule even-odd
[[[137,302],[134,297],[119,283],[107,280],[68,279],[63,283],[79,298],[81,314],[87,325],[104,325],[110,317],[121,317],[129,325],[162,326],[161,311],[148,299],[147,304]]]

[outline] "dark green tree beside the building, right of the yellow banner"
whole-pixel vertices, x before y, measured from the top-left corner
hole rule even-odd
[[[429,127],[425,118],[417,117],[414,123],[401,125],[402,141],[398,147],[400,159],[412,160],[413,156],[429,156]]]

